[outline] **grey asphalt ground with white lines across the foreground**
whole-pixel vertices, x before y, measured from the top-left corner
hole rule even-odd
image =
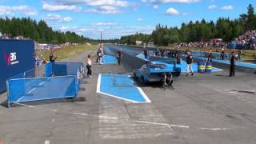
[[[132,74],[143,62],[142,50],[106,46],[107,54],[122,48],[122,66],[93,65],[93,78],[86,78],[79,98],[86,101],[32,102],[6,109],[0,96],[0,141],[3,144],[156,144],[156,143],[256,143],[256,76],[228,71],[183,76],[174,90],[138,86],[151,103],[125,102],[97,94],[98,74]],[[86,53],[88,54],[88,53]],[[84,62],[86,54],[75,60]],[[96,60],[96,59],[95,59]],[[129,92],[129,91],[126,91]]]

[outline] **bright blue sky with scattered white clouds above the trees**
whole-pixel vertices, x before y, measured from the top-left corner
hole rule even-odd
[[[161,23],[181,26],[205,18],[238,18],[255,0],[0,0],[0,17],[44,19],[54,30],[88,38],[150,34]]]

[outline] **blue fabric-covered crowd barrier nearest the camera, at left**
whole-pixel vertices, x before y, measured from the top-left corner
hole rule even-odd
[[[8,80],[8,103],[74,98],[78,94],[75,76]]]

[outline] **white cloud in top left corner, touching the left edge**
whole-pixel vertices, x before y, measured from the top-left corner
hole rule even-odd
[[[26,16],[37,15],[38,11],[30,6],[0,6],[1,16],[14,16],[15,14],[23,14]]]

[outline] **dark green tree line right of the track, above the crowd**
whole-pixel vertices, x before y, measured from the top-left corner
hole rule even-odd
[[[207,42],[212,38],[222,38],[224,42],[230,42],[246,30],[256,30],[256,14],[254,7],[249,5],[247,14],[241,14],[239,18],[218,18],[217,22],[196,21],[182,23],[178,28],[162,26],[158,24],[152,34],[133,34],[123,36],[119,42],[134,45],[136,41],[154,42],[158,46],[168,46],[177,42]]]

